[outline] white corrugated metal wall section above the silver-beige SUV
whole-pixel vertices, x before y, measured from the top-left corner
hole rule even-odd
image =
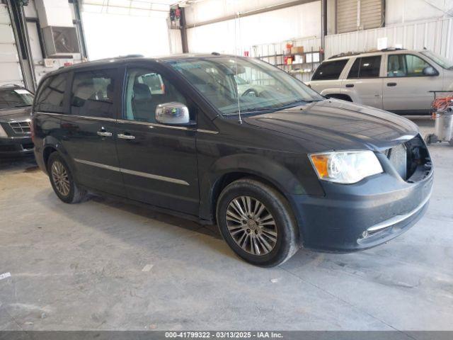
[[[453,60],[453,18],[404,23],[372,30],[327,35],[326,57],[341,52],[363,52],[377,48],[378,38],[387,38],[387,45],[401,45],[409,50],[423,47]]]

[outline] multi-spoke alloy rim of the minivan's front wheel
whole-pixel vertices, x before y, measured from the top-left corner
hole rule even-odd
[[[248,254],[269,254],[277,244],[277,225],[265,205],[251,196],[239,196],[226,208],[226,227]]]

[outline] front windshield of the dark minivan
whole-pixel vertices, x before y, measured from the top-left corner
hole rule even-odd
[[[236,115],[239,108],[244,114],[268,113],[323,100],[301,81],[260,60],[220,56],[172,60],[168,64],[222,115]]]

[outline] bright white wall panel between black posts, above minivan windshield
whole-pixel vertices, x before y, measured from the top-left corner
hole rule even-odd
[[[212,1],[206,2],[210,4]],[[242,54],[243,50],[250,50],[253,45],[319,35],[321,35],[321,1],[315,1],[246,16],[239,21],[236,19],[188,28],[188,45],[190,52],[234,53],[237,50]]]

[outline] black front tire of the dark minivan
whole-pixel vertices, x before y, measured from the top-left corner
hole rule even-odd
[[[275,222],[273,225],[271,222],[272,230],[268,229],[269,231],[265,231],[263,227],[270,228],[270,226],[260,225],[260,223],[266,220],[264,218],[266,216],[263,217],[263,213],[255,220],[255,217],[251,217],[246,224],[243,223],[244,220],[241,220],[240,223],[236,222],[237,218],[232,215],[228,215],[229,220],[227,221],[227,210],[229,210],[229,214],[232,211],[239,212],[239,210],[232,210],[231,208],[237,208],[237,203],[241,200],[244,202],[243,199],[247,201],[247,197],[252,199],[246,204],[246,206],[252,207],[249,211],[255,210],[259,203],[265,206],[265,210],[270,213],[270,217],[273,217],[273,221]],[[236,202],[234,202],[235,199]],[[253,215],[255,214],[253,213],[251,216]],[[236,214],[236,216],[238,215]],[[253,222],[250,222],[251,220]],[[252,229],[248,229],[249,223],[252,223]],[[239,179],[224,188],[217,201],[217,224],[219,225],[222,237],[231,249],[242,259],[256,266],[278,266],[287,261],[299,249],[297,223],[289,203],[275,188],[255,179]],[[230,233],[229,229],[232,229],[234,236]],[[239,232],[236,232],[237,230]],[[270,231],[276,233],[275,242],[271,242],[270,238],[266,238],[273,237],[273,235],[268,234]],[[244,242],[242,246],[240,238],[243,236],[241,236],[241,232],[247,233],[248,236],[246,235],[245,237],[249,240],[248,244]],[[253,238],[255,240],[252,242]],[[258,241],[258,238],[261,241]],[[263,239],[267,242],[264,242]],[[273,246],[271,250],[269,245]],[[256,254],[258,252],[257,249],[258,251],[261,250],[260,252],[262,254]],[[268,253],[265,251],[268,251]]]

